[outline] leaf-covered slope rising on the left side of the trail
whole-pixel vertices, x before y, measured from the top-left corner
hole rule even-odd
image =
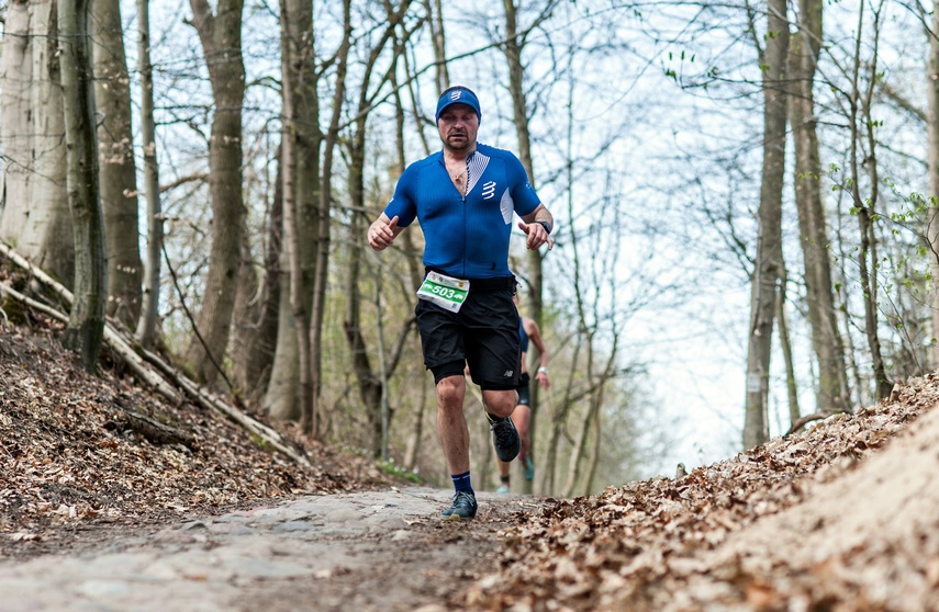
[[[74,546],[98,528],[389,481],[371,462],[281,426],[313,465],[300,467],[217,411],[167,405],[107,365],[107,351],[100,375],[88,375],[56,325],[0,325],[0,556]]]

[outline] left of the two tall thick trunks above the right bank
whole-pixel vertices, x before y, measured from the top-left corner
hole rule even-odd
[[[769,439],[767,394],[776,291],[782,271],[782,190],[785,172],[785,63],[789,23],[785,0],[770,0],[763,67],[763,171],[760,189],[760,237],[752,277],[747,350],[747,403],[744,447]]]

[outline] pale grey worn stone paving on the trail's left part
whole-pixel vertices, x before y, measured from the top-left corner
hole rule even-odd
[[[481,511],[487,499],[496,499],[478,498]],[[367,568],[381,559],[380,551],[406,549],[391,544],[407,544],[415,526],[439,523],[449,499],[450,491],[418,487],[304,497],[175,524],[93,552],[0,562],[0,612],[257,609],[257,600],[244,599],[246,587],[295,581],[309,590]],[[302,609],[344,608],[342,601],[320,603]],[[368,608],[359,603],[349,609]]]

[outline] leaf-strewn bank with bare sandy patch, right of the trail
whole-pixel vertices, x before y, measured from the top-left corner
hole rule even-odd
[[[461,603],[939,610],[939,376],[679,478],[560,500]],[[921,418],[918,418],[924,415]]]

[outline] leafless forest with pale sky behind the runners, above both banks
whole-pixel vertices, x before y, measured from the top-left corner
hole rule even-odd
[[[112,326],[247,411],[446,481],[413,315],[422,235],[375,253],[365,233],[439,150],[451,84],[556,219],[550,252],[511,252],[551,374],[526,492],[730,456],[939,361],[934,5],[0,10],[0,241],[74,295],[63,338],[90,371]],[[0,285],[4,315],[55,303],[48,286]],[[479,403],[472,471],[494,489]]]

